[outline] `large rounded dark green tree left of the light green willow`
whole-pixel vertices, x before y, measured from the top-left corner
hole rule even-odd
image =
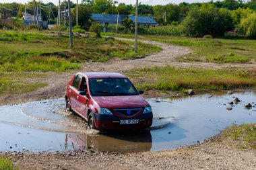
[[[231,13],[228,9],[218,9],[214,4],[203,3],[193,7],[184,19],[183,32],[187,36],[223,36],[233,29]]]

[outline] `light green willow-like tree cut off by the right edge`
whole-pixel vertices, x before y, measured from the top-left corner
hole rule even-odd
[[[250,38],[256,38],[256,13],[250,13],[241,19],[241,29]]]

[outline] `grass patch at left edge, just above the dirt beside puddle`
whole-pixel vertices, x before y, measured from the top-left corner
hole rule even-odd
[[[47,85],[40,81],[31,81],[37,77],[43,78],[40,73],[0,73],[0,95],[25,93],[34,91]]]

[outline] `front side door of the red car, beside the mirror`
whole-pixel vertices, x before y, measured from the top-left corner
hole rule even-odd
[[[82,92],[86,92],[88,93],[88,85],[87,85],[87,81],[86,81],[86,77],[82,77],[80,83],[79,83],[79,91]],[[79,105],[79,113],[81,114],[81,116],[83,116],[84,118],[87,119],[87,114],[86,114],[86,110],[88,107],[88,96],[87,95],[80,95],[78,93],[77,95],[77,104]]]

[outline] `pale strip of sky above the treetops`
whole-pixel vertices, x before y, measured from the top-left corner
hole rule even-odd
[[[31,0],[0,0],[1,3],[26,3]],[[61,0],[64,1],[64,0]],[[76,2],[76,0],[71,0]],[[126,3],[126,4],[135,4],[135,0],[117,0],[119,3]],[[139,0],[139,3],[149,4],[149,5],[166,5],[167,3],[181,3],[181,2],[188,2],[188,3],[195,3],[195,2],[208,2],[210,0]],[[44,3],[52,2],[57,4],[59,0],[42,0]],[[81,2],[81,0],[78,0]]]

